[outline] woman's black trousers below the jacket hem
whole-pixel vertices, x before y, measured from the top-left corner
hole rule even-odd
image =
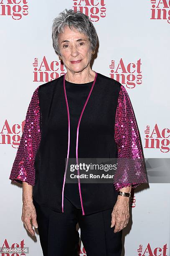
[[[68,199],[64,198],[64,212],[55,212],[39,205],[36,208],[38,233],[43,256],[77,256],[79,232],[87,256],[120,256],[122,230],[114,233],[111,225],[113,209],[82,215]]]

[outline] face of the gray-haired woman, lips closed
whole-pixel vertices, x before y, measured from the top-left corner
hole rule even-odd
[[[84,33],[73,29],[71,30],[69,26],[64,27],[64,33],[58,36],[58,45],[66,69],[81,72],[91,60],[90,41]]]

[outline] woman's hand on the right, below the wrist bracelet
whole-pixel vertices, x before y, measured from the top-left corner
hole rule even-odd
[[[112,211],[111,228],[115,225],[114,233],[119,232],[127,226],[129,216],[129,197],[118,195],[117,202]]]

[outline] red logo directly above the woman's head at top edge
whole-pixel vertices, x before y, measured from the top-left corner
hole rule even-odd
[[[73,0],[74,12],[80,11],[81,13],[89,16],[92,22],[99,21],[100,18],[106,17],[106,4],[105,0]]]

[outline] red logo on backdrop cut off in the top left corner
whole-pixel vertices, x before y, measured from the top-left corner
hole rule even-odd
[[[28,15],[26,0],[0,0],[0,16],[10,16],[13,20],[20,20]]]

